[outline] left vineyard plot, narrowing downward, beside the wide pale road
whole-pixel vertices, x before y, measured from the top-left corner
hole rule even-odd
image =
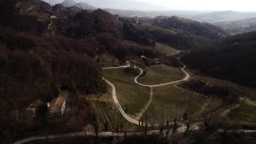
[[[138,74],[138,70],[136,73],[125,73],[124,68],[103,70],[103,77],[116,88],[121,107],[133,118],[141,112],[150,98],[150,88],[139,86],[134,82]]]

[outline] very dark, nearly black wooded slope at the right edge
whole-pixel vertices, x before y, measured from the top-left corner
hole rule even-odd
[[[255,39],[256,32],[234,35],[216,46],[191,52],[183,61],[205,75],[256,87]]]

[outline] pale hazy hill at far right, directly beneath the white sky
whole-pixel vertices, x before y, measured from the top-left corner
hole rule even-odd
[[[255,13],[240,13],[236,11],[216,11],[213,13],[196,15],[191,18],[201,22],[213,23],[223,21],[237,21],[242,19],[249,19],[255,16]]]

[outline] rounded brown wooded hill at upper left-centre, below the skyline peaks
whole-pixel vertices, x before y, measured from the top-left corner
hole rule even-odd
[[[75,39],[99,33],[109,33],[117,39],[123,38],[121,22],[101,9],[92,12],[81,10],[70,16],[69,19],[59,20],[59,24],[56,27],[57,34]]]

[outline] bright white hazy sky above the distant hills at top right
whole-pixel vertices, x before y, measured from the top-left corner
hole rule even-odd
[[[173,10],[256,11],[256,0],[135,0],[161,5]]]

